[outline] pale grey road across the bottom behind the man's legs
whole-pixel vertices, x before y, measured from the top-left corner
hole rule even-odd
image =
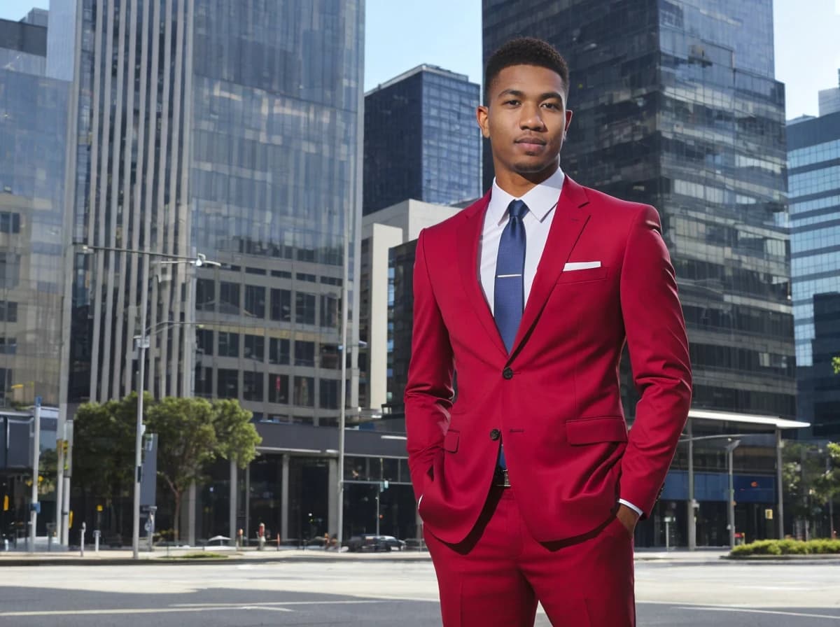
[[[440,624],[427,561],[3,567],[0,576],[3,627]],[[840,627],[837,562],[638,562],[636,577],[639,627]],[[549,627],[544,614],[537,625]]]

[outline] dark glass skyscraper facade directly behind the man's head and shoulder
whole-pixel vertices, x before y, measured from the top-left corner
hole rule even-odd
[[[795,415],[785,101],[770,0],[485,0],[484,55],[528,34],[569,61],[561,155],[652,204],[674,260],[697,408]],[[485,152],[485,187],[492,164]],[[627,409],[634,394],[628,389]],[[632,411],[629,412],[632,415]]]

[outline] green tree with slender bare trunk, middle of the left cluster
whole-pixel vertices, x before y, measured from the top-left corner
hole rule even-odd
[[[147,431],[158,436],[158,477],[170,489],[173,529],[181,529],[181,499],[192,483],[203,483],[204,467],[217,454],[213,405],[204,399],[167,396],[149,408]]]

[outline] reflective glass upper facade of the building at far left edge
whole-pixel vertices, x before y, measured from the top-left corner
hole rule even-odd
[[[45,35],[0,20],[0,407],[59,400],[69,85],[43,76]]]

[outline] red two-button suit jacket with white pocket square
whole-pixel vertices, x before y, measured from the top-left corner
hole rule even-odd
[[[508,354],[479,282],[489,200],[488,192],[417,242],[405,405],[423,524],[443,541],[465,539],[486,502],[501,442],[538,541],[596,529],[619,498],[649,513],[691,396],[685,322],[659,214],[566,176]],[[566,266],[596,261],[600,267]],[[629,436],[618,373],[625,342],[641,394]]]

